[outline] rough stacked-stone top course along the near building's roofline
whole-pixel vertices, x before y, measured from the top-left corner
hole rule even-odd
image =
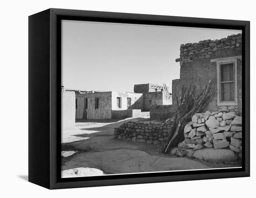
[[[202,40],[198,43],[186,43],[180,47],[180,58],[176,59],[176,62],[183,63],[193,62],[194,59],[208,59],[215,51],[241,47],[242,46],[242,34],[232,34],[227,38],[220,40]]]

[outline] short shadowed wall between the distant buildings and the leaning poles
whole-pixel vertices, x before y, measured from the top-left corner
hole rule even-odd
[[[154,105],[150,109],[150,119],[166,120],[175,116],[175,106],[173,105]]]

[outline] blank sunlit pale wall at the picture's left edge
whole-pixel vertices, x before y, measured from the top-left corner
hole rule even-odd
[[[61,130],[75,128],[75,93],[61,91]]]

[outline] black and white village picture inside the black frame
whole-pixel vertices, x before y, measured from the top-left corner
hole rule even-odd
[[[242,36],[61,20],[61,178],[241,168]]]

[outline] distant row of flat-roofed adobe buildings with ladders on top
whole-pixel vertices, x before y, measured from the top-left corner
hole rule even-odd
[[[141,111],[149,111],[154,104],[172,104],[166,88],[153,84],[141,84],[134,86],[134,92],[77,92],[75,119],[139,117]]]

